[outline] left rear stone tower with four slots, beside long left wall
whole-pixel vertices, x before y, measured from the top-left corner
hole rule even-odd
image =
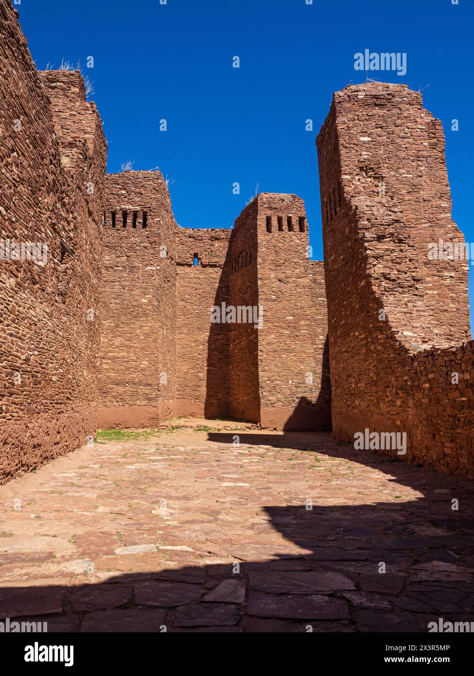
[[[99,425],[156,425],[176,400],[176,222],[160,172],[105,183]]]

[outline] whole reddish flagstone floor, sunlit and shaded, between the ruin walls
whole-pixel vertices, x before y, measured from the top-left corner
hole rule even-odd
[[[325,433],[174,425],[99,437],[0,486],[1,621],[50,632],[474,621],[471,483]]]

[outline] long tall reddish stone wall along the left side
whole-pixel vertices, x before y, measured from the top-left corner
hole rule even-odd
[[[106,145],[80,76],[42,75],[0,0],[0,482],[95,434]]]

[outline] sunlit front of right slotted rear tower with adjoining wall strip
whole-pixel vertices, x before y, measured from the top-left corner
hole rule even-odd
[[[262,427],[330,429],[329,390],[321,395],[326,320],[315,312],[308,222],[296,195],[258,195],[258,375]]]

